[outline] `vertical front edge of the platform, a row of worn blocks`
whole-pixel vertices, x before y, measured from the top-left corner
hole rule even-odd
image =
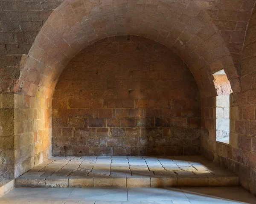
[[[239,178],[230,175],[130,175],[130,176],[21,176],[15,187],[233,187]]]

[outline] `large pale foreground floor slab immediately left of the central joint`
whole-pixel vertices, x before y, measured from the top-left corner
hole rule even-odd
[[[75,188],[70,194],[69,201],[125,201],[126,188]]]

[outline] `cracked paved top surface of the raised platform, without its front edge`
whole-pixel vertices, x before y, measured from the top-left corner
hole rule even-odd
[[[22,176],[229,175],[202,156],[52,157]]]

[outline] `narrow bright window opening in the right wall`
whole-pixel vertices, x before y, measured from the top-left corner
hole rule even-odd
[[[230,81],[224,70],[213,74],[216,96],[216,141],[229,144],[230,141]]]

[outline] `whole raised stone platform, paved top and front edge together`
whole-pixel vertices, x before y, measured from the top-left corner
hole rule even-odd
[[[237,175],[202,156],[52,157],[15,187],[230,187]]]

